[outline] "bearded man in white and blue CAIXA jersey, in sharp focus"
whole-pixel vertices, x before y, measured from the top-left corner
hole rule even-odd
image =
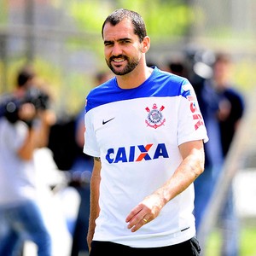
[[[85,109],[90,256],[199,255],[193,182],[207,131],[194,90],[147,67],[150,39],[136,12],[115,10],[102,38],[115,77],[90,91]]]

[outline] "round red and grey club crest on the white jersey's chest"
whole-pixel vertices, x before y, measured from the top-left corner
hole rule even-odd
[[[149,127],[156,129],[161,125],[165,124],[166,119],[163,119],[163,113],[162,113],[164,108],[165,108],[164,106],[161,106],[160,109],[157,108],[155,103],[153,104],[153,107],[151,109],[148,107],[145,108],[146,111],[148,112],[148,116],[145,122]]]

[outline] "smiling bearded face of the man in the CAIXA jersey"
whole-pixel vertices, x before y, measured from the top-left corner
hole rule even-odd
[[[134,34],[130,20],[122,20],[116,26],[107,23],[103,30],[103,40],[105,60],[116,75],[131,73],[140,63],[143,43]]]

